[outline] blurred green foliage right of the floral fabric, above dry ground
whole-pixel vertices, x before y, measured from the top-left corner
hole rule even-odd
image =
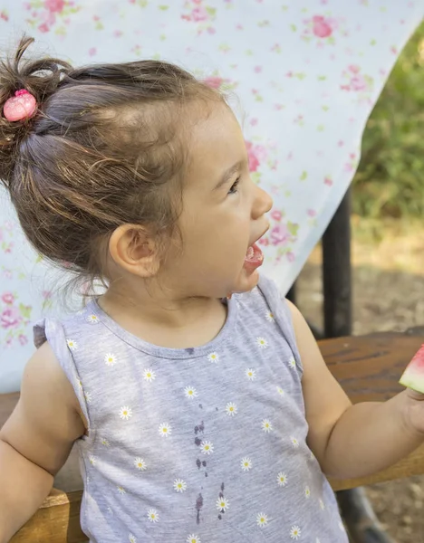
[[[353,211],[424,216],[424,24],[401,53],[367,123]]]

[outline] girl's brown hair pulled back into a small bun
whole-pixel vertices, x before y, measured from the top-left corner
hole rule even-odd
[[[103,277],[101,251],[118,226],[173,230],[185,161],[176,121],[189,102],[221,96],[168,62],[23,62],[33,42],[24,36],[0,65],[0,110],[19,89],[38,103],[32,119],[0,117],[0,179],[38,252]]]

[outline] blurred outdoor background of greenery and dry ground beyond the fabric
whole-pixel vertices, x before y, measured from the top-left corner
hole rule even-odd
[[[424,24],[367,123],[352,210],[353,333],[424,326]],[[318,246],[301,272],[296,300],[322,326],[320,264]],[[396,541],[424,541],[424,476],[367,493]]]

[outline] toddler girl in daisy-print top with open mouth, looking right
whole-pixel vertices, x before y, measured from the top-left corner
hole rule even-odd
[[[260,277],[272,201],[217,90],[167,62],[0,70],[0,177],[34,248],[105,292],[34,330],[0,433],[0,541],[75,443],[92,543],[343,543],[326,475],[424,441],[422,396],[352,406]]]

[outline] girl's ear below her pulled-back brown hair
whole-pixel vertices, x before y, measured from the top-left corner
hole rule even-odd
[[[120,268],[133,275],[149,278],[159,271],[158,244],[140,224],[123,224],[109,241],[111,258]]]

